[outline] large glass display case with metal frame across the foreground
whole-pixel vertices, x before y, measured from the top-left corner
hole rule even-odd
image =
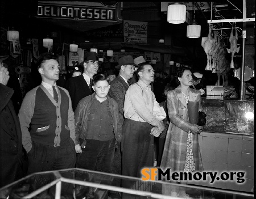
[[[131,187],[118,187],[117,180],[130,183]],[[177,198],[171,191],[185,190],[192,198],[253,198],[253,194],[230,190],[173,184],[163,181],[143,181],[127,177],[82,169],[67,169],[34,173],[0,189],[1,198]],[[184,197],[179,197],[184,198]]]

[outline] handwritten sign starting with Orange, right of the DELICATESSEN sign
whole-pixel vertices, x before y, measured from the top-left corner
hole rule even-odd
[[[128,43],[147,43],[147,22],[123,20],[124,41]]]

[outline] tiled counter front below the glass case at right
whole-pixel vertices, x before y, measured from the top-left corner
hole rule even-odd
[[[213,188],[253,192],[254,136],[202,132],[199,145],[204,171],[245,172],[245,183],[236,181],[198,181],[192,184]]]

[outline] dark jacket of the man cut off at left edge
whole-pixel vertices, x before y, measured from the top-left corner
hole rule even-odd
[[[0,83],[0,187],[23,177],[22,133],[11,96],[13,89]]]

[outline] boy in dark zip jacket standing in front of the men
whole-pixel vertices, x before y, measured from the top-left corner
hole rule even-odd
[[[110,173],[115,145],[121,140],[117,102],[108,96],[109,78],[93,78],[95,93],[79,101],[75,110],[76,143],[81,149],[77,167]]]

